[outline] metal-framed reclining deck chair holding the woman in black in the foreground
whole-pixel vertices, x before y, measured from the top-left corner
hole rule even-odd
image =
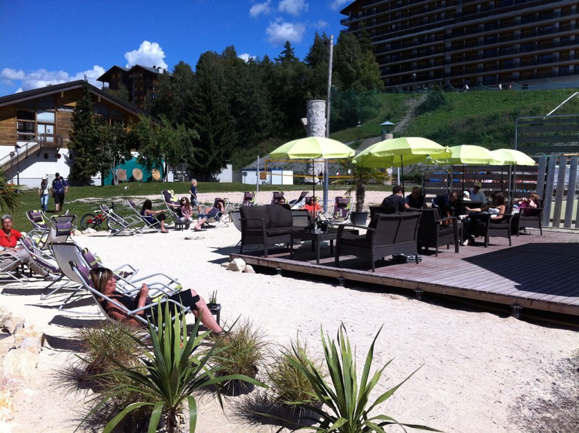
[[[108,296],[102,294],[101,292],[96,290],[96,288],[94,288],[94,285],[92,284],[92,280],[90,279],[90,270],[88,268],[86,268],[84,265],[82,265],[80,263],[76,263],[75,261],[72,261],[72,260],[69,262],[69,265],[70,265],[70,269],[72,270],[72,272],[74,272],[74,274],[76,274],[79,281],[81,281],[82,288],[87,290],[87,292],[90,293],[90,295],[92,296],[94,303],[96,303],[96,306],[99,308],[99,313],[103,314],[103,316],[105,316],[106,319],[108,319],[112,322],[116,322],[116,319],[114,319],[112,316],[110,316],[108,314],[108,312],[104,308],[104,305],[103,305],[101,299],[114,303],[118,308],[121,309],[121,311],[125,312],[125,314],[127,314],[127,316],[131,316],[133,319],[140,321],[141,323],[143,323],[144,326],[148,325],[147,319],[145,319],[144,317],[140,316],[137,313],[139,313],[141,311],[145,312],[146,310],[153,311],[152,309],[154,309],[154,308],[162,308],[164,303],[170,303],[170,304],[174,305],[174,310],[176,310],[178,312],[179,316],[181,316],[183,314],[187,314],[187,312],[190,311],[190,308],[185,307],[184,305],[182,305],[182,304],[180,304],[172,299],[166,299],[164,297],[161,297],[157,300],[153,300],[152,303],[145,305],[144,307],[137,308],[136,310],[129,310],[128,308],[125,307],[125,305],[123,305],[119,301],[115,301],[114,299],[110,299]],[[125,294],[128,294],[128,293],[125,293]],[[132,294],[136,294],[136,293],[132,293]],[[174,319],[174,317],[173,317],[173,319]]]

